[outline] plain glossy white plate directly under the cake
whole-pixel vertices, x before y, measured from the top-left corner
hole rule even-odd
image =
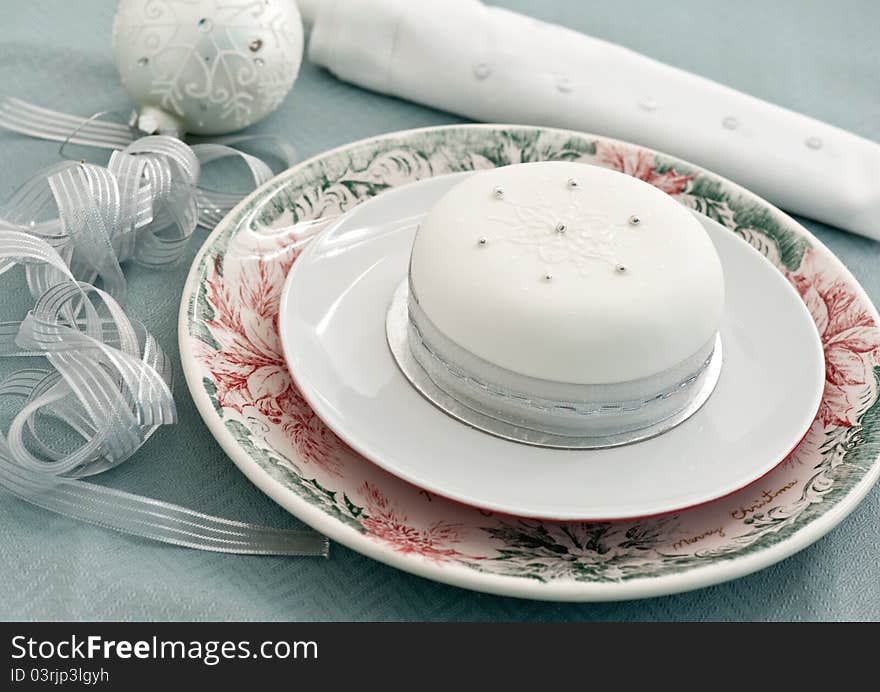
[[[279,329],[297,385],[352,448],[468,505],[555,520],[650,516],[760,478],[797,445],[825,381],[822,344],[797,292],[760,253],[697,215],[725,272],[724,364],[715,392],[677,428],[613,449],[556,450],[475,430],[433,406],[398,369],[385,315],[427,211],[467,174],[359,205],[313,240],[281,296]]]

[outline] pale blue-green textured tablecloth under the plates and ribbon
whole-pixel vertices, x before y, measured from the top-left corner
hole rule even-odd
[[[115,3],[0,0],[0,94],[68,112],[128,112],[110,52]],[[670,64],[880,140],[880,6],[872,0],[508,0],[510,9],[617,41]],[[305,65],[288,100],[253,131],[303,155],[393,130],[459,122],[364,92]],[[0,133],[0,198],[57,161],[57,144]],[[71,150],[71,155],[80,155]],[[83,152],[88,155],[88,152]],[[798,175],[798,171],[791,171]],[[878,220],[880,223],[880,220]],[[880,300],[880,244],[807,222]],[[204,240],[200,231],[190,250]],[[127,308],[175,359],[188,265],[130,267]],[[20,275],[0,277],[0,315],[27,308]],[[0,364],[0,372],[9,367]],[[101,482],[229,518],[294,527],[202,425],[177,378],[180,423]],[[831,534],[728,584],[631,603],[553,604],[471,593],[334,545],[329,560],[215,555],[73,523],[0,495],[2,619],[877,620],[880,489]]]

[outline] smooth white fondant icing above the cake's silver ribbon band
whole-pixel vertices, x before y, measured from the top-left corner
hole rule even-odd
[[[481,171],[455,186],[422,223],[410,272],[425,315],[453,342],[575,384],[675,367],[717,332],[724,302],[721,262],[687,209],[571,162]]]

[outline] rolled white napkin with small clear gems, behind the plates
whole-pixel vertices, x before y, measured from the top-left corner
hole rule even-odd
[[[880,239],[880,145],[607,41],[478,0],[300,0],[309,56],[362,87],[490,122],[680,156]]]

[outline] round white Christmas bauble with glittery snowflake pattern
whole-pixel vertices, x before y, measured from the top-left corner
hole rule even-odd
[[[284,100],[302,21],[295,0],[121,0],[113,52],[142,130],[218,135]]]

